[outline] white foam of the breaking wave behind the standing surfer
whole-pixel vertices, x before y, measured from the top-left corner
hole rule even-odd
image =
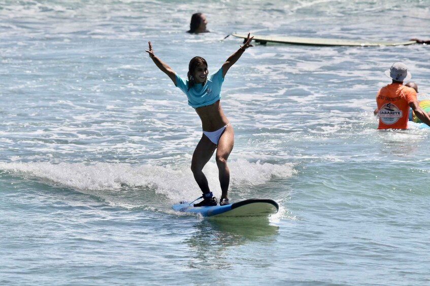
[[[244,159],[229,163],[230,186],[247,193],[258,185],[275,178],[286,179],[295,174],[292,164],[274,165],[255,163]],[[0,162],[0,170],[24,177],[36,177],[48,184],[68,187],[106,198],[112,192],[127,192],[139,189],[142,192],[155,191],[171,201],[189,200],[200,195],[189,166],[153,166],[112,163],[60,163],[50,162]],[[210,162],[204,169],[209,185],[216,196],[221,190],[218,182],[218,169]],[[115,203],[115,201],[112,201]],[[130,205],[133,202],[128,201]],[[145,205],[144,201],[137,205]]]

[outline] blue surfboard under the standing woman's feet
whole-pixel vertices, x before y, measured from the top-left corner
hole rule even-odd
[[[278,203],[267,198],[251,198],[231,203],[226,206],[193,207],[189,202],[181,201],[172,206],[178,212],[195,213],[204,217],[268,217],[278,212]]]

